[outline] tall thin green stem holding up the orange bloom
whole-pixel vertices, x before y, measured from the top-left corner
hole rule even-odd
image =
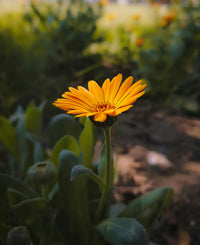
[[[112,162],[112,147],[111,147],[111,127],[104,129],[105,144],[106,144],[106,167],[105,167],[105,189],[101,194],[99,206],[96,211],[95,221],[98,222],[106,200],[108,199],[110,189],[113,185],[113,162]]]

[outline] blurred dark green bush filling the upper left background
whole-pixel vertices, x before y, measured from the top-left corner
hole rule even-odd
[[[41,102],[99,65],[87,52],[101,15],[85,1],[41,2],[0,18],[0,104],[6,112],[31,99]],[[55,83],[56,80],[56,83]],[[37,92],[36,92],[37,91]],[[8,113],[7,113],[8,114]]]

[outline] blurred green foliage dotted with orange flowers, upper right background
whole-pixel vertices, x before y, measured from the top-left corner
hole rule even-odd
[[[197,115],[200,7],[179,4],[167,12],[164,16],[157,8],[151,10],[149,25],[141,20],[143,13],[114,30],[104,25],[98,33],[105,34],[105,41],[97,50],[116,70],[144,79],[154,101]]]

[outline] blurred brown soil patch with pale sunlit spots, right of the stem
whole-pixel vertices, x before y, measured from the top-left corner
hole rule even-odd
[[[156,245],[200,244],[200,119],[150,102],[123,113],[113,128],[117,201],[170,186],[174,197],[152,236]]]

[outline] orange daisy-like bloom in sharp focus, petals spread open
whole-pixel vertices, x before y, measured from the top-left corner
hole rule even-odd
[[[146,84],[142,81],[133,83],[133,77],[128,77],[122,84],[122,75],[118,74],[112,81],[106,79],[102,88],[95,82],[88,82],[88,90],[82,86],[77,89],[69,87],[62,97],[53,105],[74,114],[75,117],[93,117],[96,122],[105,122],[107,116],[116,117],[130,109],[133,103],[141,97]],[[121,86],[120,86],[121,84]]]

